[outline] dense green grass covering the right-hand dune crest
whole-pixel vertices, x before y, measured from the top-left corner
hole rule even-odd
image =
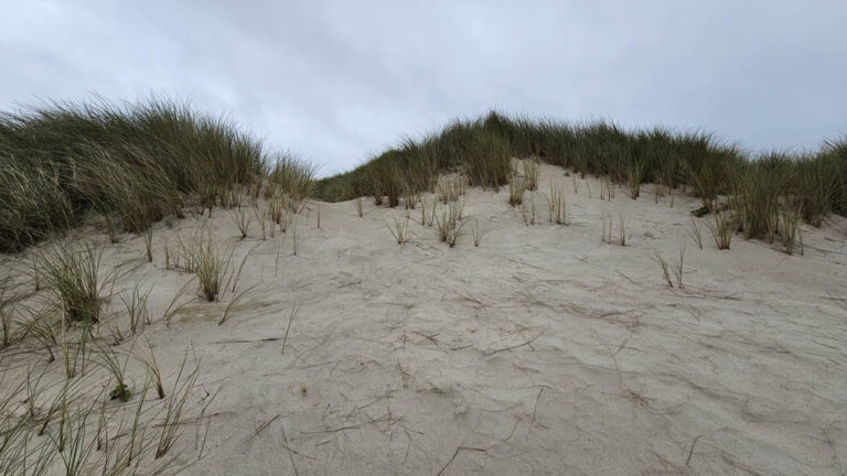
[[[674,188],[687,185],[708,212],[730,197],[748,238],[770,239],[779,232],[771,221],[783,202],[798,203],[813,226],[833,213],[847,215],[847,139],[826,142],[815,153],[754,153],[697,131],[566,123],[496,111],[452,121],[420,140],[406,139],[350,172],[319,181],[315,194],[337,202],[374,192],[388,195],[411,182],[427,184],[424,190],[437,183],[435,173],[455,171],[470,185],[496,188],[510,182],[511,158],[537,158],[580,176],[607,177],[608,188],[626,185],[632,198],[640,196],[642,183],[661,184],[662,194],[672,197]],[[375,174],[378,185],[368,180]]]

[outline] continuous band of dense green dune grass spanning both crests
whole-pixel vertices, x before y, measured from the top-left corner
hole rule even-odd
[[[661,184],[672,196],[685,185],[709,212],[730,196],[751,238],[779,234],[769,223],[774,203],[796,204],[803,220],[816,227],[833,213],[847,214],[845,138],[816,152],[752,153],[698,131],[492,111],[404,139],[358,167],[315,182],[309,162],[270,154],[232,120],[187,104],[95,100],[0,112],[0,252],[64,232],[89,215],[103,217],[118,240],[121,230],[143,234],[185,209],[238,206],[244,195],[256,199],[264,193],[292,209],[310,196],[373,196],[377,205],[394,207],[404,195],[435,192],[439,174],[453,172],[468,185],[498,190],[513,175],[513,158],[605,177],[608,187],[626,185],[633,198],[642,183]],[[534,162],[524,164],[533,190]]]

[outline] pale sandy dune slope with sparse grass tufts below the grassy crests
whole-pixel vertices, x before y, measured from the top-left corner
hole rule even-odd
[[[201,209],[153,225],[151,261],[143,236],[73,231],[66,247],[99,244],[104,301],[97,324],[54,325],[55,340],[33,324],[56,318],[40,314],[55,242],[6,256],[20,325],[0,354],[0,410],[15,415],[0,468],[23,474],[10,462],[29,454],[26,474],[844,473],[845,218],[797,224],[791,248],[782,225],[773,242],[729,230],[718,249],[722,215],[694,218],[690,186],[633,199],[540,164],[510,206],[516,176],[453,180],[440,183],[455,201],[422,193],[410,210],[304,201],[277,225],[275,198]],[[450,246],[438,227],[459,207]],[[192,256],[225,264],[211,302]],[[110,357],[130,391],[114,400]]]

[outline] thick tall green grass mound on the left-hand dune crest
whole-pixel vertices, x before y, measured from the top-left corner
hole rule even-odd
[[[50,102],[0,112],[0,251],[63,232],[89,212],[141,232],[165,215],[181,217],[189,203],[226,201],[269,171],[275,181],[290,174],[236,123],[183,102]]]

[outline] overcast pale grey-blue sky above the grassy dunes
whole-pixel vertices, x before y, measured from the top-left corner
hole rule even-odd
[[[847,134],[847,1],[0,0],[0,109],[152,94],[349,170],[491,109],[714,132]]]

